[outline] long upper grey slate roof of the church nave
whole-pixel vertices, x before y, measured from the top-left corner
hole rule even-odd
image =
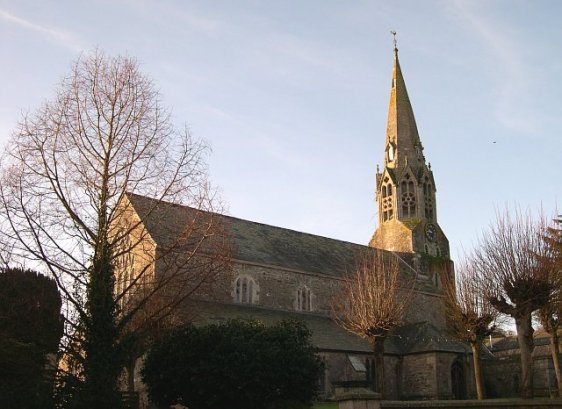
[[[174,240],[196,209],[136,194],[128,198],[157,243]],[[150,217],[145,215],[150,212]],[[235,258],[240,261],[284,269],[340,276],[355,265],[357,257],[369,247],[315,236],[263,223],[220,216],[230,229],[235,243]]]

